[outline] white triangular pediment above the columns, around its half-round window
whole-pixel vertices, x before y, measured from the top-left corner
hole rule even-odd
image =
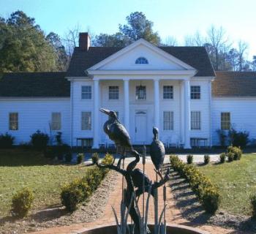
[[[148,64],[136,64],[138,58],[145,58]],[[119,50],[107,59],[100,61],[88,71],[108,71],[108,70],[195,70],[176,57],[166,53],[155,45],[144,39],[128,45]]]

